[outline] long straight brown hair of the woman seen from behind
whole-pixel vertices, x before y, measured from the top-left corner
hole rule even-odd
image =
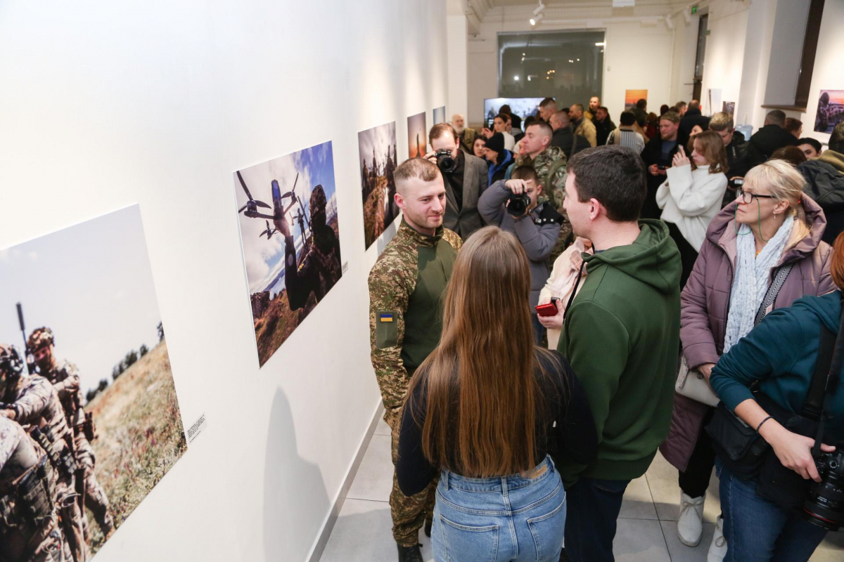
[[[535,420],[544,398],[535,373],[542,351],[533,343],[530,286],[527,255],[511,233],[484,227],[463,244],[440,345],[419,366],[404,405],[418,423],[414,388],[426,385],[422,450],[431,463],[486,478],[541,460]]]

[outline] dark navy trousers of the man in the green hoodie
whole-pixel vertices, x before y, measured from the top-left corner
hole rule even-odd
[[[565,522],[569,562],[613,562],[615,522],[630,480],[581,477],[568,490],[571,517]]]

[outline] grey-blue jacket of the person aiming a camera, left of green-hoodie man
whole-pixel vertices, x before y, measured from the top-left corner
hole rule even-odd
[[[548,281],[548,256],[560,236],[562,216],[548,203],[541,203],[527,217],[517,221],[504,208],[511,193],[504,185],[504,180],[496,181],[481,195],[478,209],[484,221],[515,234],[522,243],[527,259],[530,260],[530,304],[536,307],[539,292]]]

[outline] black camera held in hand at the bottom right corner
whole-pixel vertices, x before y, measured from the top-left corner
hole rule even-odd
[[[812,482],[803,502],[803,516],[828,531],[844,524],[844,451],[827,452],[814,459],[820,482]]]

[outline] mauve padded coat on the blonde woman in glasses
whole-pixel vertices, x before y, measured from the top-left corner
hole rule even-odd
[[[836,288],[830,277],[832,249],[821,240],[826,227],[824,211],[808,195],[803,195],[803,211],[812,224],[811,231],[776,263],[776,267],[789,262],[794,266],[776,293],[773,308],[790,307],[803,295],[825,295]],[[724,349],[737,254],[734,213],[735,206],[728,205],[712,219],[680,297],[680,340],[693,368],[717,363]],[[671,429],[659,450],[680,471],[689,463],[709,409],[706,404],[674,395]]]

